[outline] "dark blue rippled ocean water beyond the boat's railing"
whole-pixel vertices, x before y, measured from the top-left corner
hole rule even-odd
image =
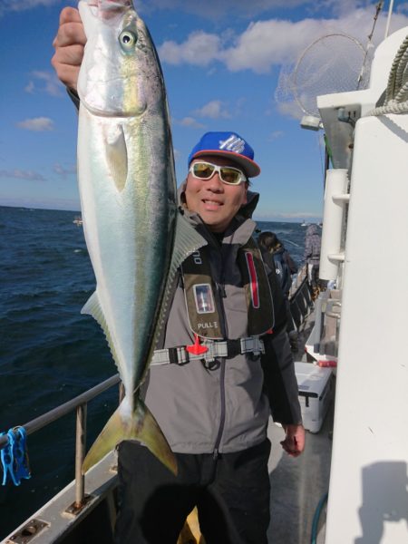
[[[75,215],[0,207],[0,432],[117,372],[99,325],[80,313],[95,281]],[[258,222],[258,228],[276,232],[302,262],[300,224]],[[117,402],[113,387],[89,404],[90,444]],[[0,485],[0,539],[73,480],[74,432],[72,414],[28,437],[32,477],[19,487]]]

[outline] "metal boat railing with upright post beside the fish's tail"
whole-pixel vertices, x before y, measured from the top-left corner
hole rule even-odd
[[[26,434],[43,429],[50,423],[59,420],[64,415],[76,410],[76,440],[75,440],[75,507],[80,508],[83,504],[85,496],[85,477],[81,471],[83,460],[85,458],[85,443],[86,443],[86,413],[88,403],[101,393],[110,389],[113,385],[120,384],[121,378],[119,374],[115,374],[101,384],[95,385],[85,393],[81,393],[74,397],[71,401],[63,403],[50,412],[44,413],[35,418],[31,422],[21,425],[24,427]],[[120,392],[121,395],[121,392]],[[0,449],[4,448],[8,443],[7,435],[0,436]]]

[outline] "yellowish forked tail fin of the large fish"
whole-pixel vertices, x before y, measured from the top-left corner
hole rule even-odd
[[[128,413],[123,408],[123,403],[113,413],[83,461],[83,474],[112,452],[123,440],[142,442],[173,474],[177,474],[177,461],[171,452],[169,442],[153,414],[140,398],[136,399],[133,413]]]

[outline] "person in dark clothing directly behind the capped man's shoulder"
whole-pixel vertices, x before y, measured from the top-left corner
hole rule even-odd
[[[262,252],[262,257],[267,267],[275,267],[280,287],[285,296],[287,307],[287,335],[291,350],[297,352],[297,331],[292,314],[290,312],[289,291],[292,286],[292,275],[296,274],[297,267],[295,261],[290,256],[284,244],[277,238],[275,232],[266,230],[261,232],[257,238],[257,243]]]

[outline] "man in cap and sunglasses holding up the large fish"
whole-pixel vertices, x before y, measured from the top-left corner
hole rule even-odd
[[[72,95],[84,43],[78,13],[65,8],[53,66]],[[283,424],[290,455],[303,451],[305,431],[284,298],[251,238],[258,195],[248,178],[260,170],[236,132],[208,132],[188,162],[180,211],[207,244],[180,267],[143,386],[179,472],[121,442],[116,540],[175,544],[197,505],[207,544],[266,544],[268,415]]]

